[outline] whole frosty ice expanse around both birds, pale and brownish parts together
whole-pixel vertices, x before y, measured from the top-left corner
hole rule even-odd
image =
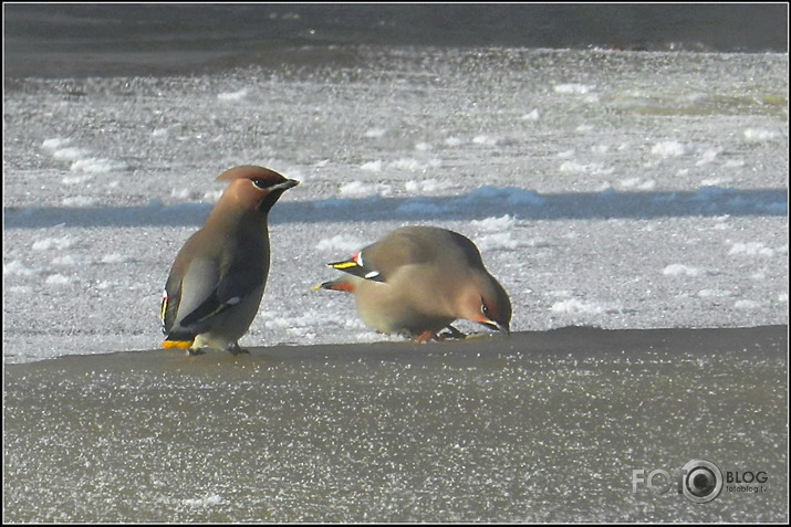
[[[7,80],[6,520],[788,520],[787,54],[289,56]],[[242,164],[302,181],[253,354],[129,352]],[[478,243],[511,339],[414,346],[311,291],[414,223]],[[694,459],[769,491],[631,493]]]

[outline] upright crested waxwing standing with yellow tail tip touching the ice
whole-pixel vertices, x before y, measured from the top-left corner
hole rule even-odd
[[[163,347],[244,352],[247,333],[261,304],[269,275],[269,210],[299,181],[254,166],[232,168],[217,178],[229,181],[206,224],[176,255],[165,284]]]

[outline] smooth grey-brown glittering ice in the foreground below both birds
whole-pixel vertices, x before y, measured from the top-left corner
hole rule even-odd
[[[12,365],[6,519],[782,521],[787,347],[565,328]],[[699,459],[764,491],[633,494],[633,470]]]

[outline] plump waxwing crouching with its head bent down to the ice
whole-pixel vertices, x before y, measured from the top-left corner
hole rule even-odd
[[[464,318],[509,333],[511,301],[461,234],[434,226],[396,229],[351,259],[327,264],[348,273],[315,289],[354,294],[363,322],[416,341]]]

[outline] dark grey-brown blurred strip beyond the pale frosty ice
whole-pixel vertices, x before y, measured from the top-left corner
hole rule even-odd
[[[6,77],[198,73],[305,45],[788,51],[785,3],[20,3],[3,24]]]

